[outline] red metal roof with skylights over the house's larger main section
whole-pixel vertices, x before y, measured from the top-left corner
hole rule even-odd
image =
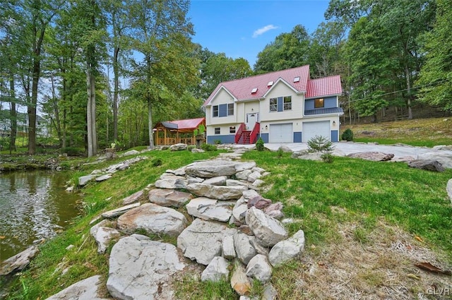
[[[295,77],[300,78],[297,83],[294,83]],[[309,65],[222,82],[210,94],[204,105],[207,105],[212,100],[221,87],[228,90],[237,100],[261,98],[280,78],[292,85],[295,90],[304,92],[307,90],[307,82],[309,80]],[[273,81],[273,85],[267,86],[270,81]],[[251,93],[254,88],[257,88],[257,92]]]

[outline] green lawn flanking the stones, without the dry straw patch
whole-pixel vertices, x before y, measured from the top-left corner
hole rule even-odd
[[[97,254],[97,246],[89,235],[90,220],[100,212],[118,207],[122,198],[152,184],[166,169],[176,169],[217,154],[147,152],[149,160],[117,172],[108,181],[83,188],[87,203],[84,215],[69,230],[41,247],[40,255],[30,268],[16,277],[14,292],[7,299],[45,299],[95,274],[107,280],[108,253]],[[162,160],[162,165],[153,167],[153,160],[157,158]],[[242,158],[256,161],[258,167],[271,173],[264,178],[268,191],[263,192],[263,196],[285,204],[286,217],[297,221],[288,225],[290,234],[304,230],[307,257],[321,259],[327,248],[343,242],[344,238],[338,234],[342,225],[357,224],[352,229],[353,243],[369,246],[380,230],[386,230],[381,225],[384,223],[418,236],[424,246],[446,253],[446,260],[452,263],[452,205],[446,194],[446,182],[452,178],[452,170],[434,173],[410,169],[405,163],[345,157],[335,157],[333,163],[328,164],[292,159],[287,153],[278,158],[276,152],[256,150],[246,152]],[[88,166],[78,172],[88,174],[100,167],[102,165]],[[106,200],[109,197],[112,199]],[[175,243],[174,239],[169,242]],[[69,244],[73,244],[76,251],[66,251]],[[66,275],[61,275],[61,270],[69,266],[72,267]],[[302,289],[298,277],[307,273],[307,265],[301,260],[275,268],[272,282],[280,292],[280,299],[316,299],[309,293],[300,296],[304,294],[295,292]],[[369,286],[380,285],[380,277],[374,273],[362,277]],[[261,288],[255,284],[254,289]],[[177,283],[177,295],[180,299],[238,299],[228,282],[203,283],[191,272]]]

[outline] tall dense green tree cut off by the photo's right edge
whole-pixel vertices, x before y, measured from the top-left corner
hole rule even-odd
[[[420,100],[452,111],[452,2],[436,1],[436,21],[432,32],[425,35],[427,61],[422,66]]]

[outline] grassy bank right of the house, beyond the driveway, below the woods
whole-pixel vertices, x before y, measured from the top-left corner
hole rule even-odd
[[[343,124],[340,126],[340,134],[347,128],[352,129],[355,142],[404,143],[424,147],[452,144],[451,118],[413,119],[351,126]]]

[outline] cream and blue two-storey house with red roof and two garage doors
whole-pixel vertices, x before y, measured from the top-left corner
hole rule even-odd
[[[218,84],[204,102],[208,143],[339,140],[340,76],[310,79],[309,66]]]

